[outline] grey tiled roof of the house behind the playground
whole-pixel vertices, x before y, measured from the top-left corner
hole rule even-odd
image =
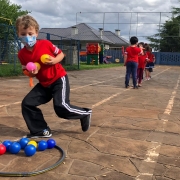
[[[72,27],[76,27],[78,29],[78,34],[71,34]],[[107,44],[122,46],[127,46],[129,44],[126,40],[111,31],[103,31],[101,39],[100,31],[88,26],[85,23],[80,23],[68,28],[42,28],[39,32],[38,39],[46,38],[47,33],[50,34],[50,40],[61,40],[66,38],[81,41],[99,41]]]

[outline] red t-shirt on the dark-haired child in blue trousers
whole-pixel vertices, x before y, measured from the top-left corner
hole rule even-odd
[[[134,61],[138,63],[138,55],[141,52],[141,49],[138,47],[132,47],[129,46],[126,48],[125,54],[127,55],[127,60],[128,61]]]

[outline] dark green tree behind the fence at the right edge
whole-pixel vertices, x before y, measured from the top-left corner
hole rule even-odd
[[[180,52],[180,8],[172,8],[172,17],[147,39],[155,51]]]

